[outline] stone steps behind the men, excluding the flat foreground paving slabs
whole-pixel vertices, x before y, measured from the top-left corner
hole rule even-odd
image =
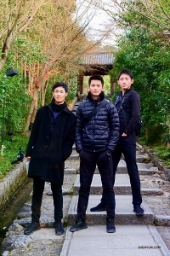
[[[70,157],[71,160],[77,160],[78,154],[73,150]],[[149,162],[150,158],[146,154],[140,154],[137,151],[137,162],[139,167],[139,177],[144,179],[145,175],[152,175],[156,171],[156,167],[148,167],[145,162]],[[77,218],[77,200],[78,200],[78,190],[80,187],[79,174],[75,183],[73,184],[73,197],[71,201],[71,206],[68,212],[68,224],[73,224]],[[116,183],[114,187],[116,195],[116,224],[153,224],[154,214],[150,208],[144,203],[144,216],[137,217],[133,212],[132,205],[132,190],[127,174],[127,167],[125,161],[122,159],[117,167],[116,172]],[[142,195],[162,195],[161,189],[148,188],[141,183],[141,193]],[[90,208],[96,206],[102,194],[102,184],[99,175],[98,167],[94,172],[94,178],[91,184],[90,196],[88,201],[87,209],[87,222],[88,224],[105,224],[106,212],[90,212]]]

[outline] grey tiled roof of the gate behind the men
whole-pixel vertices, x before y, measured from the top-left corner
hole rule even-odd
[[[81,64],[83,65],[111,65],[115,56],[111,52],[95,52],[82,56]]]

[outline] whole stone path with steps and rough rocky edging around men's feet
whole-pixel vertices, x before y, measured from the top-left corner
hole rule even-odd
[[[90,212],[99,203],[101,182],[98,169],[89,197],[88,229],[76,233],[69,231],[77,215],[79,188],[79,159],[75,150],[65,162],[64,224],[65,234],[55,236],[54,206],[50,184],[46,183],[41,215],[41,230],[31,236],[23,235],[31,222],[31,201],[26,202],[20,214],[9,227],[3,241],[2,255],[43,256],[112,256],[112,255],[170,255],[170,183],[138,147],[137,160],[143,194],[144,216],[133,212],[132,195],[124,160],[116,173],[116,233],[105,231],[105,212]]]

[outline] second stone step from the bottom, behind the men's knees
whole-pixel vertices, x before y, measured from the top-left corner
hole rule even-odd
[[[141,178],[143,178],[141,176]],[[80,176],[77,175],[77,179],[73,185],[74,195],[78,194],[80,187]],[[101,195],[102,194],[102,184],[99,174],[94,174],[93,181],[91,184],[90,194],[92,195]],[[116,182],[114,186],[114,191],[116,195],[131,195],[132,189],[130,185],[130,180],[128,174],[116,174]],[[161,189],[148,189],[144,188],[144,184],[141,183],[141,194],[142,195],[162,195],[163,192]]]

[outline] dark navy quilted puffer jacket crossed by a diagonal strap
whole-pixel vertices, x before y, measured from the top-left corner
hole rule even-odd
[[[88,92],[88,99],[77,109],[76,147],[77,152],[84,150],[98,152],[113,151],[119,137],[119,118],[115,106],[108,102],[85,125],[84,119],[91,113],[99,102],[105,101],[101,92],[99,100],[94,101]]]

